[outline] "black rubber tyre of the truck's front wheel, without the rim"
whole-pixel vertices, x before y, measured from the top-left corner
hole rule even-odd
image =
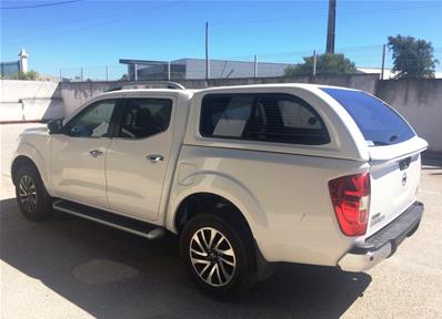
[[[29,176],[33,184],[36,185],[37,191],[37,206],[33,213],[27,212],[20,202],[20,181],[23,176]],[[16,197],[17,203],[19,205],[20,212],[33,222],[42,222],[51,217],[52,209],[51,209],[51,198],[49,194],[46,192],[43,183],[41,181],[40,174],[37,169],[32,166],[24,166],[19,168],[17,172],[17,181],[16,181]]]

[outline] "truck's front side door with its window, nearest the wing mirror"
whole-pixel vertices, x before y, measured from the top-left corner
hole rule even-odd
[[[52,136],[52,182],[59,197],[107,207],[104,163],[108,134],[118,100],[84,107]]]

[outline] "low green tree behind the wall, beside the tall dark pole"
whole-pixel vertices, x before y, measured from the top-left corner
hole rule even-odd
[[[285,76],[313,74],[313,55],[304,56],[301,64],[288,66]],[[353,74],[356,68],[344,54],[325,53],[317,55],[317,74]]]

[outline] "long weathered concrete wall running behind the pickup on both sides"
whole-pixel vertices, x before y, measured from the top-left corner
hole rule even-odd
[[[68,116],[88,100],[130,82],[0,81],[0,121]],[[137,82],[142,84],[143,82]],[[442,152],[442,80],[379,81],[376,74],[319,75],[297,78],[247,78],[180,81],[188,89],[262,83],[319,83],[370,92],[395,107],[430,150]],[[2,120],[4,119],[4,120]]]

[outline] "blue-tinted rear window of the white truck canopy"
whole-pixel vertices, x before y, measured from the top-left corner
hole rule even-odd
[[[398,144],[415,135],[393,109],[365,92],[329,88],[321,90],[346,110],[369,146]]]

